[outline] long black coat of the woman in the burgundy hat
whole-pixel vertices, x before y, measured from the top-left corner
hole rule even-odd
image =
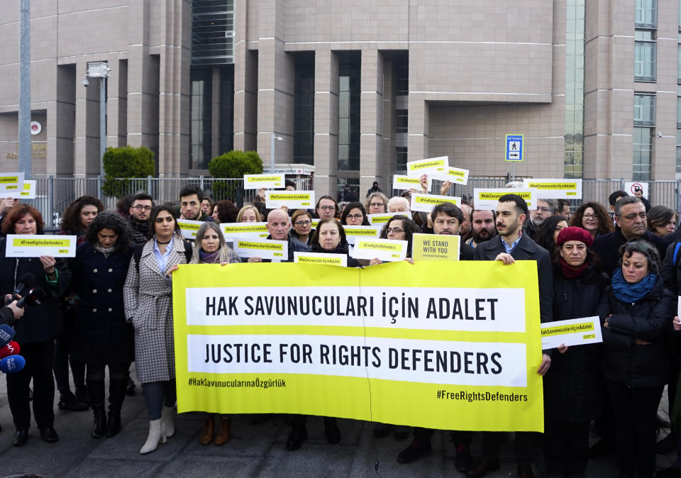
[[[609,285],[607,274],[589,266],[577,279],[567,279],[554,270],[553,320],[593,317]],[[602,403],[602,344],[570,347],[554,353],[544,376],[544,411],[568,423],[596,418]]]

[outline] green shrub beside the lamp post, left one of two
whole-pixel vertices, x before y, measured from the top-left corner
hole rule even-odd
[[[106,196],[125,196],[128,194],[128,181],[116,178],[147,177],[154,174],[154,153],[149,148],[107,148],[104,161],[104,184],[102,191]]]

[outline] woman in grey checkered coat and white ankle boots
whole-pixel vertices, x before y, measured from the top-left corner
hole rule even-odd
[[[170,270],[186,264],[185,243],[170,205],[156,206],[150,235],[135,253],[123,289],[126,318],[135,328],[135,369],[149,411],[149,435],[140,453],[153,452],[175,433],[175,350]],[[191,248],[191,246],[189,246]]]

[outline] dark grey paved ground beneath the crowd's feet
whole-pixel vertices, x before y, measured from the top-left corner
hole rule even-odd
[[[133,374],[134,376],[134,374]],[[13,425],[7,405],[6,387],[0,387],[0,476],[34,473],[45,477],[412,477],[463,476],[454,468],[454,449],[449,433],[438,432],[433,438],[433,455],[411,465],[395,460],[409,440],[396,441],[392,436],[375,440],[370,423],[341,420],[343,440],[328,445],[323,438],[321,418],[310,418],[310,438],[296,452],[284,448],[289,428],[283,416],[274,416],[261,425],[250,425],[248,416],[233,417],[230,442],[223,447],[199,445],[199,413],[185,413],[176,421],[175,436],[148,455],[138,453],[148,431],[148,416],[137,387],[135,396],[123,406],[123,431],[114,438],[93,440],[89,436],[92,412],[57,411],[55,428],[60,440],[43,443],[35,428],[29,432],[28,444],[11,445]],[[666,396],[665,396],[666,400]],[[56,404],[55,404],[56,408]],[[660,406],[660,415],[666,401]],[[665,430],[663,433],[667,433]],[[592,437],[594,440],[596,437]],[[502,448],[502,469],[489,477],[514,477],[512,435]],[[479,455],[480,437],[475,438],[474,455]],[[668,467],[674,454],[658,455],[658,468]],[[378,460],[379,469],[374,466]],[[541,453],[533,465],[543,474]],[[589,462],[588,477],[616,476],[614,457]]]

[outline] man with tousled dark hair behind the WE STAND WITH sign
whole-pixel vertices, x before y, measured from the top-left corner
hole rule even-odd
[[[458,206],[451,203],[441,203],[433,208],[431,211],[433,218],[433,233],[441,235],[458,235],[460,232],[461,223],[463,223],[463,211]],[[475,249],[467,245],[463,239],[459,243],[459,259],[473,260]],[[384,436],[387,433],[382,433],[382,430],[389,430],[385,428],[383,423],[378,423],[374,428],[374,436]],[[409,446],[399,452],[397,461],[400,463],[413,463],[419,458],[430,455],[431,438],[433,430],[430,428],[414,427],[414,440]],[[472,458],[470,457],[470,443],[472,435],[467,431],[452,431],[452,440],[456,447],[455,467],[460,472],[463,472],[470,467]]]

